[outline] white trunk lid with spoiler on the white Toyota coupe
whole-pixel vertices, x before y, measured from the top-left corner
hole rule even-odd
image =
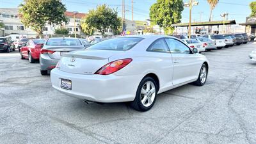
[[[122,54],[125,51],[74,51],[65,54],[59,63],[60,70],[73,74],[92,75],[109,63],[109,57]]]

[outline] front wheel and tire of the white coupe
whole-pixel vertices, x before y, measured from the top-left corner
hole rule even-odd
[[[193,84],[195,84],[196,86],[204,86],[207,80],[207,75],[208,75],[207,66],[203,64],[202,67],[200,68],[199,76]]]

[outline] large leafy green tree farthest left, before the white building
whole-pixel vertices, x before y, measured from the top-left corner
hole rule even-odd
[[[39,37],[42,36],[45,24],[67,23],[64,15],[67,8],[59,0],[24,0],[20,6],[21,22],[36,31]]]

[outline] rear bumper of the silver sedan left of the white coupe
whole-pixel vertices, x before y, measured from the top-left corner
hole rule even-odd
[[[40,67],[41,70],[52,70],[59,60],[52,59],[48,54],[40,54]]]

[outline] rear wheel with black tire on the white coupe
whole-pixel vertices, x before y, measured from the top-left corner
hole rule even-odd
[[[154,106],[157,97],[157,84],[152,77],[144,77],[137,89],[131,107],[137,111],[148,111]]]

